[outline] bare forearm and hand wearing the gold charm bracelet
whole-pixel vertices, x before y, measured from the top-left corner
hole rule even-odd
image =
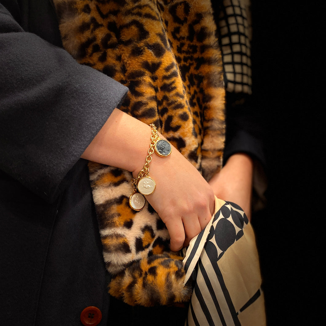
[[[115,109],[81,157],[128,170],[135,177],[145,163],[150,137],[150,126]],[[176,148],[168,157],[152,154],[149,175],[156,190],[146,199],[166,224],[170,249],[180,250],[210,221],[213,189]]]

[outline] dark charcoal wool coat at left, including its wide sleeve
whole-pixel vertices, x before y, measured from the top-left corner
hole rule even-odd
[[[95,305],[106,325],[108,275],[79,157],[127,88],[49,43],[61,45],[50,1],[1,3],[0,314],[6,325],[81,325]]]

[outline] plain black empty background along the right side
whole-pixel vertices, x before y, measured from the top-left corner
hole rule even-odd
[[[253,94],[269,179],[253,226],[269,326],[323,320],[325,5],[299,3],[252,0]]]

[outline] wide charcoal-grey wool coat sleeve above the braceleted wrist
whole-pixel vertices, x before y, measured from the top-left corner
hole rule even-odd
[[[0,169],[53,201],[127,88],[25,32],[0,4]]]

